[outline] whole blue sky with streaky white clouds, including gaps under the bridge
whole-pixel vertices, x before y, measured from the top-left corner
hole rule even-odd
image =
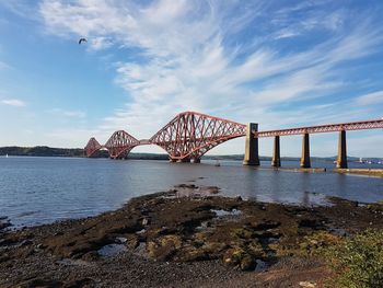
[[[382,1],[0,0],[0,146],[150,138],[183,111],[262,130],[381,118],[382,68]],[[311,145],[334,155],[337,135]],[[351,155],[382,146],[382,130],[348,133]],[[243,151],[241,138],[211,153]],[[281,139],[282,155],[300,151]]]

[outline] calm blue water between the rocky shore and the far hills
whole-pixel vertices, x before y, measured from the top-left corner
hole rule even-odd
[[[299,163],[285,161],[282,165]],[[313,166],[333,168],[333,163],[314,162]],[[383,199],[383,178],[278,172],[268,168],[269,162],[254,169],[242,166],[240,161],[221,161],[221,166],[214,166],[214,161],[172,164],[148,160],[0,158],[0,216],[8,216],[16,227],[94,216],[116,209],[131,197],[188,182],[217,185],[225,195],[263,201],[321,203],[316,193],[364,203]]]

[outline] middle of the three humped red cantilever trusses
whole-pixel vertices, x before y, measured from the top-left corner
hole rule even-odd
[[[124,130],[115,131],[105,143],[105,148],[113,159],[128,154],[132,148],[140,145],[140,141]]]

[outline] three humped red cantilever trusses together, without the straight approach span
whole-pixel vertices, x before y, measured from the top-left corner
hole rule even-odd
[[[219,143],[246,135],[246,125],[212,117],[209,115],[184,112],[175,116],[149,140],[138,140],[124,130],[115,131],[102,146],[91,138],[85,147],[86,157],[100,149],[107,149],[111,158],[126,155],[140,145],[156,145],[164,149],[172,161],[199,162],[200,158]]]

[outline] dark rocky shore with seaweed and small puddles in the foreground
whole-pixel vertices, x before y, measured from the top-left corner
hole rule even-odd
[[[381,204],[267,204],[183,184],[97,217],[0,232],[0,287],[322,287],[330,270],[314,252],[382,229],[382,216]]]

